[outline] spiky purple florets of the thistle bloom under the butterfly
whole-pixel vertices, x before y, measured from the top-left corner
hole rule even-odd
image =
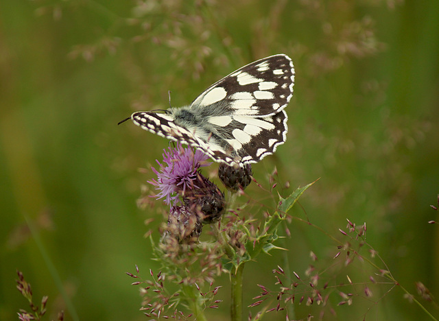
[[[159,200],[165,198],[168,205],[176,205],[179,194],[185,194],[187,189],[197,187],[194,181],[197,179],[197,171],[200,167],[209,166],[211,163],[201,164],[208,158],[200,150],[195,153],[190,147],[182,147],[180,143],[176,147],[168,147],[163,150],[163,164],[158,160],[159,170],[152,167],[152,171],[157,175],[157,180],[148,182],[156,187],[160,193],[155,195]]]

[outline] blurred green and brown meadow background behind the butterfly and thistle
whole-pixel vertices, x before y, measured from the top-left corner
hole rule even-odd
[[[429,206],[439,193],[438,1],[1,0],[0,8],[0,320],[28,308],[16,269],[37,302],[49,296],[50,318],[64,309],[71,320],[25,217],[81,320],[145,320],[124,272],[158,269],[143,235],[152,228],[158,239],[163,218],[137,208],[152,177],[138,169],[167,141],[117,122],[167,108],[169,90],[173,106],[189,104],[274,53],[296,67],[289,134],[254,176],[265,183],[276,166],[292,187],[278,190],[284,196],[320,178],[294,215],[340,239],[346,218],[366,222],[366,241],[396,280],[414,295],[420,281],[438,296],[438,225],[427,223],[439,220]],[[331,264],[337,243],[328,235],[295,220],[289,230],[292,270],[304,273],[311,250]],[[274,283],[281,256],[273,255],[246,267],[246,306],[257,283]],[[221,283],[226,302],[211,320],[229,318],[228,278]],[[401,289],[388,289],[350,307],[335,300],[337,314],[325,320],[431,320]],[[435,304],[422,303],[439,318]],[[317,318],[318,309],[303,304],[296,318]]]

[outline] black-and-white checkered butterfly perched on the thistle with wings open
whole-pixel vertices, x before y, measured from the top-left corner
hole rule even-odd
[[[144,130],[202,150],[218,163],[243,167],[285,143],[284,109],[293,95],[294,75],[291,58],[270,56],[218,80],[189,106],[134,112],[123,121],[132,119]]]

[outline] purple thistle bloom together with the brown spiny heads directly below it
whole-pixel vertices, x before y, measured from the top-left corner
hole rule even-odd
[[[217,222],[226,208],[224,193],[204,177],[201,167],[207,156],[190,147],[168,147],[163,150],[163,163],[152,168],[156,180],[149,181],[159,191],[155,197],[164,199],[170,207],[167,232],[179,243],[195,241],[201,234],[202,224]]]

